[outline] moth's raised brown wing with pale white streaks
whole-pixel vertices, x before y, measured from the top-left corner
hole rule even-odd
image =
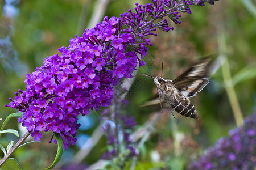
[[[185,97],[192,97],[209,83],[210,65],[213,58],[206,57],[172,81],[174,87]]]

